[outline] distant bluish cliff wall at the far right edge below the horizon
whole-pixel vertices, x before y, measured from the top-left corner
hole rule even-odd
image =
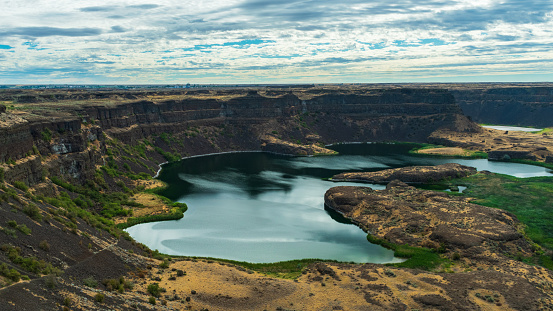
[[[463,113],[478,123],[553,126],[553,87],[484,86],[451,92]]]

